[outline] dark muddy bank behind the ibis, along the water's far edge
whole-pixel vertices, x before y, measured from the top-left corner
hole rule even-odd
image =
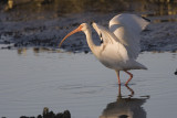
[[[94,17],[93,17],[94,15]],[[0,22],[0,43],[7,44],[1,49],[19,49],[42,46],[59,49],[59,42],[82,22],[95,21],[107,26],[113,14],[84,13],[74,17],[27,22]],[[80,19],[84,18],[84,19]],[[149,18],[153,19],[153,18]],[[177,22],[152,22],[142,32],[142,51],[177,51]],[[93,39],[100,44],[100,39],[93,30]],[[72,35],[66,40],[62,49],[73,52],[90,51],[83,33]]]

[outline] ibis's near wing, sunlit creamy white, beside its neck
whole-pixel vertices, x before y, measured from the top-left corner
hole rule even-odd
[[[98,25],[96,23],[92,24],[97,34],[101,37],[101,41],[103,42],[101,44],[102,53],[105,56],[113,55],[115,58],[122,58],[122,61],[127,61],[128,55],[125,46],[118,42],[117,37],[114,35],[114,33],[110,32],[106,28]],[[108,52],[108,53],[106,53]],[[119,57],[118,57],[119,56]]]

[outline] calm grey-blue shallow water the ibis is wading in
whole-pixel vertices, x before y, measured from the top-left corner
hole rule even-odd
[[[145,52],[138,62],[148,71],[131,71],[133,81],[118,92],[115,72],[91,53],[0,50],[0,117],[38,116],[49,107],[69,109],[72,118],[175,118],[176,53]],[[121,73],[123,84],[127,77]]]

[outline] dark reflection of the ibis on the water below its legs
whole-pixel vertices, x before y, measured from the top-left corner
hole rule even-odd
[[[123,97],[121,86],[118,86],[117,100],[110,103],[100,118],[146,118],[146,111],[142,105],[146,103],[149,96],[133,98],[134,90],[128,86],[125,87],[131,92],[131,95]]]

